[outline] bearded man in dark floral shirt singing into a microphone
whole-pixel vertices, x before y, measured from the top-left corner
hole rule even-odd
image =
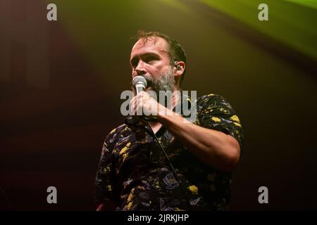
[[[186,56],[165,34],[139,32],[130,64],[132,78],[147,79],[147,90],[175,93]],[[146,91],[131,105],[156,120],[130,116],[106,137],[96,177],[97,210],[227,210],[231,172],[242,150],[242,126],[230,104],[216,94],[202,96],[196,120],[184,122],[173,109],[190,104],[189,98],[173,96],[166,108]]]

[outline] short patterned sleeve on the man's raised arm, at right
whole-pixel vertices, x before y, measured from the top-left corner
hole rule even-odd
[[[237,113],[222,96],[209,94],[197,101],[197,119],[201,127],[233,136],[243,147],[243,131]]]

